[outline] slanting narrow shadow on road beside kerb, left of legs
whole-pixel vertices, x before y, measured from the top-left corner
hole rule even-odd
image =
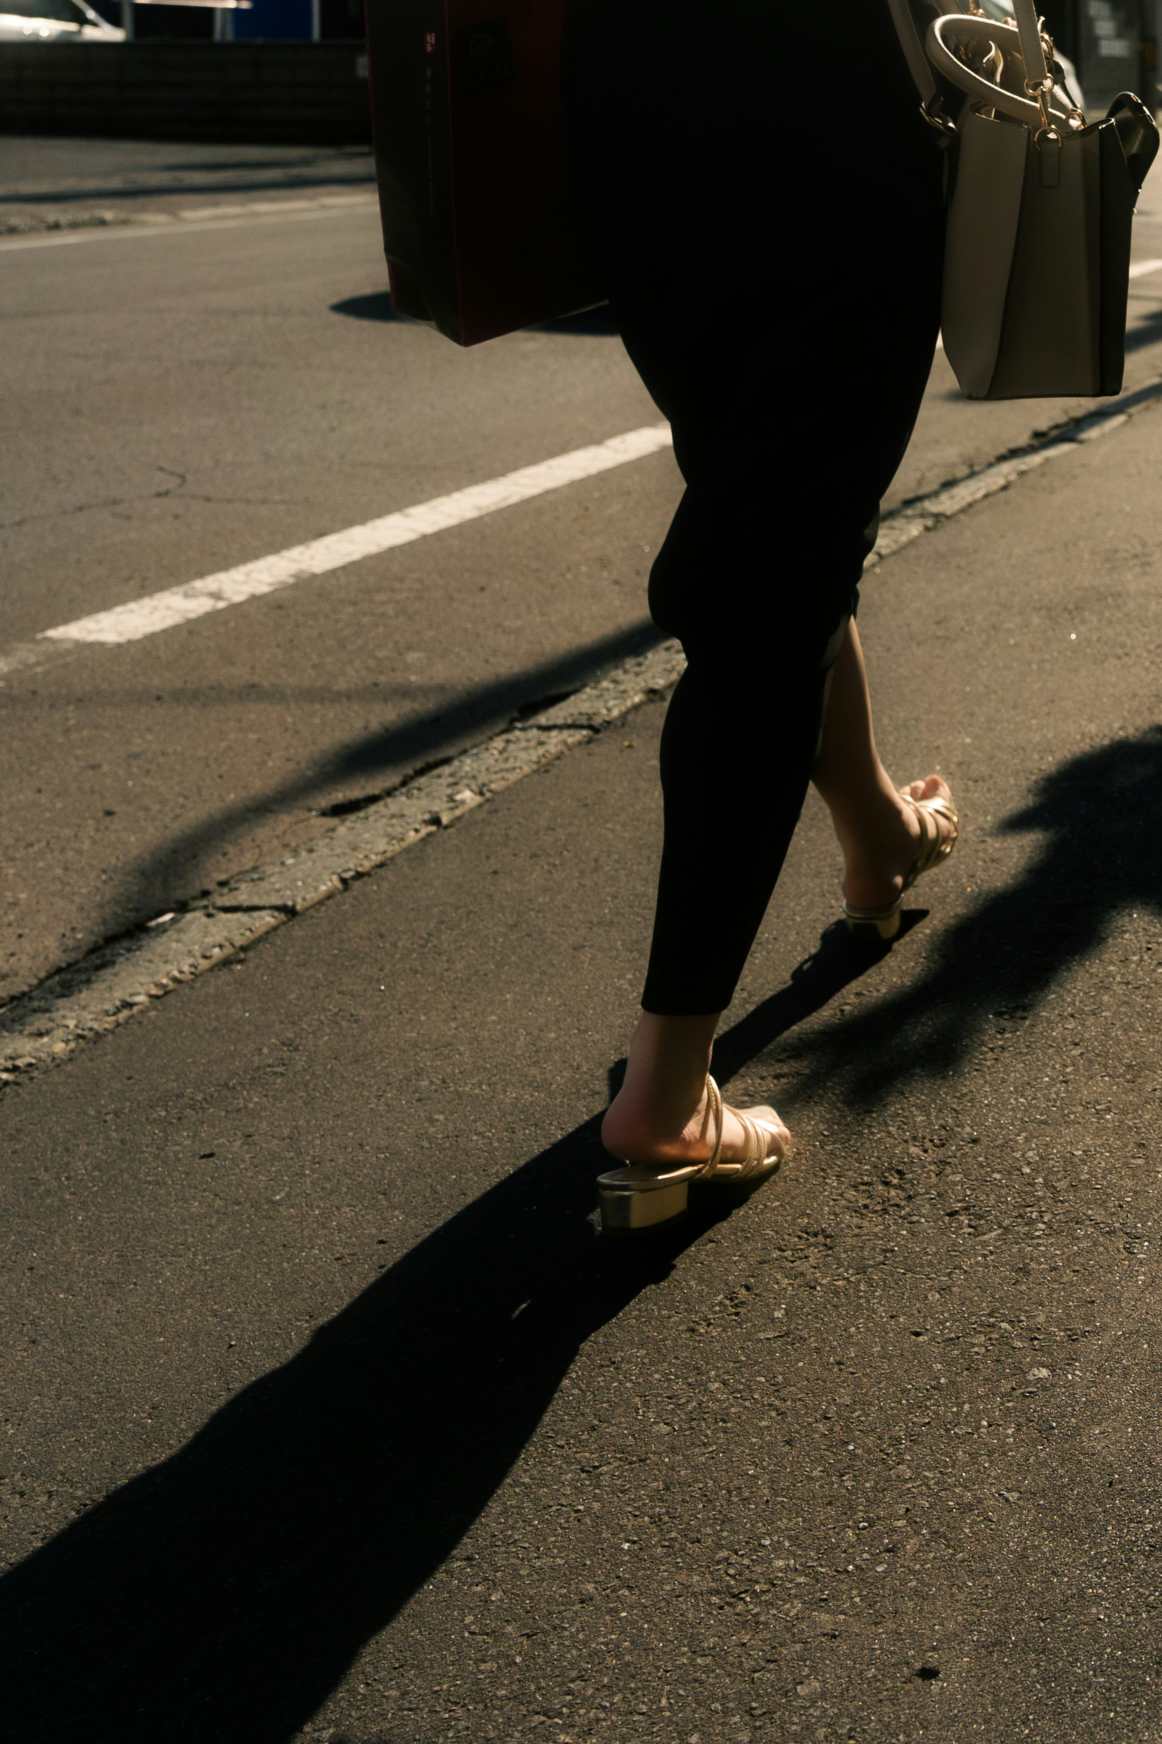
[[[571,696],[608,666],[631,659],[634,654],[645,654],[646,649],[657,647],[662,640],[662,631],[655,624],[639,619],[629,630],[599,637],[557,659],[542,661],[488,684],[474,684],[446,694],[439,706],[404,715],[402,720],[383,727],[382,732],[352,739],[329,757],[321,757],[305,769],[298,767],[289,780],[265,794],[223,806],[213,816],[202,818],[186,830],[178,830],[120,874],[117,888],[110,886],[103,937],[117,937],[127,926],[139,924],[186,902],[192,895],[190,869],[199,865],[200,856],[209,848],[228,841],[258,813],[308,806],[315,795],[322,797],[352,785],[359,792],[333,800],[328,806],[328,814],[341,816],[343,811],[359,811],[362,806],[383,799],[399,785],[415,780],[425,769],[479,743],[488,732],[510,720],[528,719],[540,708]],[[415,687],[408,685],[406,694],[415,696]],[[383,687],[373,691],[369,701],[383,708],[390,698],[390,689]],[[294,699],[296,703],[303,701],[298,692]],[[206,696],[209,715],[221,701],[221,694]],[[286,698],[280,696],[279,701],[286,701]],[[385,780],[385,776],[388,778]]]

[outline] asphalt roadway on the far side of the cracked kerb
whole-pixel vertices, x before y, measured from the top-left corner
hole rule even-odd
[[[45,141],[64,192],[120,180],[134,194],[188,160],[82,145]],[[0,140],[0,185],[35,185],[30,153]],[[247,181],[237,166],[214,174]],[[267,187],[251,192],[265,204]],[[0,244],[0,654],[657,420],[601,314],[467,352],[392,321],[373,208],[232,223]],[[1136,253],[1162,256],[1162,192],[1145,201]],[[1162,272],[1134,286],[1131,387],[1159,373],[1160,317]],[[1078,410],[967,405],[939,356],[888,506]],[[678,492],[657,455],[239,610],[9,675],[0,999],[638,649]]]

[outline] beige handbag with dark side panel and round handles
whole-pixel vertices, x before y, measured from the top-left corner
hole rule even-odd
[[[1153,115],[1125,92],[1087,126],[1033,0],[1012,0],[1012,24],[970,0],[888,5],[922,113],[949,152],[942,333],[962,391],[1120,392],[1131,220],[1159,148]],[[925,14],[936,14],[927,30]]]

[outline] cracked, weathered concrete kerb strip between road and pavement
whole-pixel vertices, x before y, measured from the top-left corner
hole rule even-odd
[[[876,565],[953,514],[1005,490],[1017,478],[1078,443],[1096,441],[1162,398],[1150,382],[1040,443],[883,516],[868,565]],[[512,726],[429,773],[401,783],[387,797],[345,818],[326,835],[282,860],[225,881],[213,896],[159,916],[139,931],[101,945],[80,963],[51,975],[0,1010],[0,1085],[66,1059],[82,1041],[115,1029],[181,982],[218,968],[402,849],[483,806],[524,776],[544,769],[664,696],[681,677],[678,642],[664,642],[585,685],[540,715]]]

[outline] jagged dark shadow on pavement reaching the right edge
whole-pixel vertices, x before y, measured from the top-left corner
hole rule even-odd
[[[990,1024],[1028,1017],[1063,973],[1098,950],[1118,914],[1162,912],[1162,727],[1061,764],[998,828],[1040,830],[1045,841],[1014,884],[944,931],[920,980],[794,1039],[793,1053],[805,1062],[794,1097],[826,1085],[855,1107],[873,1107],[909,1083],[946,1080]],[[775,994],[740,1025],[747,1059],[782,1034],[784,998]]]

